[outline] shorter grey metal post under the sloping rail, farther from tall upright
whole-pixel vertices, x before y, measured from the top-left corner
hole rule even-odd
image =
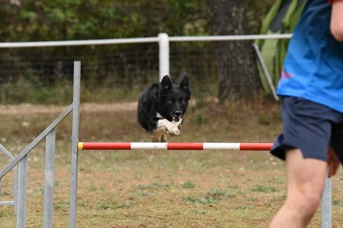
[[[19,162],[18,177],[18,205],[16,212],[16,228],[26,227],[26,205],[27,205],[27,155]]]

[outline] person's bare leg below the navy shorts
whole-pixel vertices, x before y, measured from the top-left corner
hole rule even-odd
[[[300,149],[286,152],[287,198],[270,228],[306,227],[320,203],[327,164],[304,159]]]

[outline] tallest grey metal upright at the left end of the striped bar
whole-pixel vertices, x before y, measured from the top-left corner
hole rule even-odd
[[[69,227],[76,227],[76,198],[78,190],[78,142],[80,123],[80,78],[81,61],[74,61],[73,84],[73,123],[71,129],[71,183],[70,183],[70,209]]]

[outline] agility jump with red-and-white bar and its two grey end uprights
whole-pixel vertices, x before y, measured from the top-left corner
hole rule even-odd
[[[71,136],[71,194],[69,227],[76,227],[78,155],[88,150],[229,150],[269,151],[273,143],[230,143],[230,142],[79,142],[80,125],[80,76],[81,62],[74,62],[73,83],[73,127]],[[81,153],[81,152],[80,152]],[[83,152],[82,152],[83,153]],[[331,227],[331,179],[325,181],[322,195],[322,228]]]

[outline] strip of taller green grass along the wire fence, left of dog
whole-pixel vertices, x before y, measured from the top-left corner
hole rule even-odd
[[[156,77],[151,77],[152,79]],[[139,96],[146,86],[152,82],[141,81],[137,84],[125,86],[114,81],[104,80],[96,84],[91,80],[82,81],[82,101],[113,102],[113,98],[120,101],[132,100]],[[67,104],[73,99],[73,84],[67,79],[60,79],[54,85],[42,84],[39,79],[29,80],[20,78],[15,82],[5,82],[0,84],[0,104],[15,103],[47,103],[47,104]]]

